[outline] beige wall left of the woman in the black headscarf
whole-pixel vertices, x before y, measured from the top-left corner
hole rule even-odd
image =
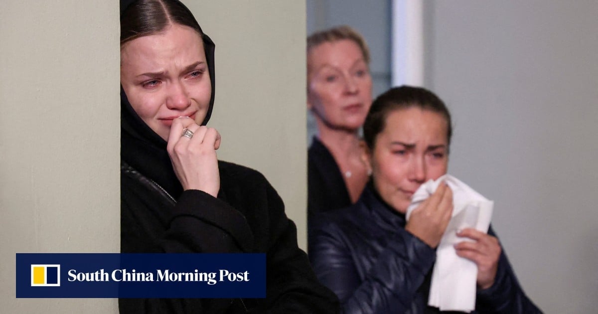
[[[118,252],[117,3],[0,9],[2,313],[106,313],[115,300],[15,298],[17,252]]]

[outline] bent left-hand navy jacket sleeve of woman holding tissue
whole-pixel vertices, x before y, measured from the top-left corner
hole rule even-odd
[[[435,251],[398,230],[367,273],[359,274],[352,247],[338,225],[320,223],[312,232],[310,260],[318,279],[334,291],[344,313],[403,313],[435,261]],[[361,279],[364,278],[364,279]]]

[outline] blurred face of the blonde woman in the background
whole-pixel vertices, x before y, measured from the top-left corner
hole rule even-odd
[[[359,46],[324,42],[307,55],[307,108],[333,129],[356,130],[370,109],[372,80]]]

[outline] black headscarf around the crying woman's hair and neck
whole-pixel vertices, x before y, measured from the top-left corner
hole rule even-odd
[[[169,0],[178,2],[182,8],[191,14],[191,11],[185,7],[182,2],[178,0]],[[137,0],[121,0],[120,1],[120,15],[135,4]],[[197,23],[197,21],[196,21]],[[197,24],[199,27],[199,23]],[[200,28],[201,30],[201,28]],[[212,108],[214,105],[215,95],[215,80],[214,80],[214,43],[202,31],[203,47],[206,53],[206,62],[208,63],[208,72],[210,74],[210,81],[212,83],[212,96],[210,97],[210,105],[206,112],[202,125],[208,123],[210,115],[212,115]],[[120,111],[121,111],[121,135],[120,135],[120,158],[129,166],[141,172],[144,176],[159,184],[171,196],[178,199],[182,192],[182,186],[176,178],[175,172],[170,163],[170,157],[166,151],[166,141],[154,132],[145,122],[139,117],[131,106],[127,95],[124,93],[123,87],[120,88]]]

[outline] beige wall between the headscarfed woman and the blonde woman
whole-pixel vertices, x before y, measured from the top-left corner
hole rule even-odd
[[[218,157],[266,176],[306,248],[305,2],[198,1],[189,7],[216,44],[209,126],[222,135]]]

